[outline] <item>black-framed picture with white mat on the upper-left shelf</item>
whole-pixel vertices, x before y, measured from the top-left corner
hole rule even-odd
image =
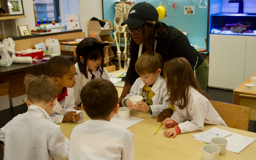
[[[7,0],[7,8],[10,16],[24,15],[22,0]]]

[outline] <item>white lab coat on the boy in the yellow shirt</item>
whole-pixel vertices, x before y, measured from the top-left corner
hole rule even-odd
[[[129,99],[131,96],[141,96],[142,88],[144,87],[144,85],[145,84],[141,81],[141,78],[137,78],[132,85],[130,93],[127,94],[126,97],[122,100],[123,106],[126,106],[124,101]],[[167,95],[166,83],[162,76],[157,76],[156,82],[153,84],[151,91],[153,91],[155,95],[152,97],[153,105],[149,106],[152,110],[152,115],[150,113],[148,113],[148,115],[150,117],[156,117],[160,112],[162,112],[166,108],[169,108],[170,106],[170,101],[168,100]]]

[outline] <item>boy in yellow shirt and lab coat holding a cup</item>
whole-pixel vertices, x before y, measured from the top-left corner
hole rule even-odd
[[[164,78],[160,76],[163,67],[163,58],[156,52],[144,52],[135,63],[135,70],[140,75],[136,79],[130,93],[122,100],[123,106],[133,110],[135,107],[148,112],[150,117],[156,117],[170,106]],[[129,98],[133,95],[143,97],[142,103],[132,105]],[[173,108],[174,109],[174,108]],[[173,111],[172,111],[173,112]]]

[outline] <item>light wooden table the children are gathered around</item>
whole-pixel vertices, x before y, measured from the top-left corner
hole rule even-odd
[[[127,70],[127,68],[124,68]],[[124,71],[124,69],[122,69]],[[122,70],[115,71],[115,73],[121,72]],[[120,96],[122,88],[116,87],[118,95]],[[207,131],[212,127],[218,127],[220,129],[238,133],[244,136],[256,138],[256,133],[248,132],[243,130],[238,130],[234,128],[205,124],[203,131],[183,133],[177,135],[175,138],[166,138],[164,136],[165,127],[162,125],[156,135],[154,135],[156,129],[158,128],[160,122],[156,122],[155,118],[150,118],[148,113],[142,111],[132,111],[131,116],[136,116],[143,118],[144,120],[129,127],[134,134],[134,159],[203,159],[202,147],[206,143],[194,140],[193,134]],[[83,122],[87,121],[89,117],[85,114],[85,119]],[[60,129],[63,134],[70,139],[71,132],[73,128],[79,124],[75,122],[65,122],[60,125]],[[252,155],[255,152],[256,142],[253,142],[239,154],[228,151],[219,156],[219,160],[232,159],[253,159]]]

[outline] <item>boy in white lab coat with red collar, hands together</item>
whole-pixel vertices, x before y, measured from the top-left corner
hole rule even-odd
[[[84,112],[75,107],[74,89],[76,84],[75,64],[64,57],[55,56],[48,60],[45,72],[58,86],[57,102],[50,116],[54,123],[84,120]]]

